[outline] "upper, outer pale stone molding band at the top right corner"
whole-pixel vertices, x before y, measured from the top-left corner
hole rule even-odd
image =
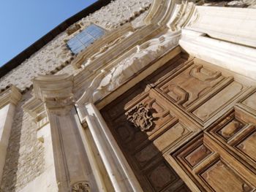
[[[238,45],[256,47],[256,10],[235,7],[196,6],[193,23],[186,29]]]

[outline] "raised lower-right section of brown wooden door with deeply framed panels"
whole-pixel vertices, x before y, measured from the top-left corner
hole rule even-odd
[[[256,116],[249,108],[256,109],[256,102],[247,102],[252,98],[255,93],[167,157],[200,191],[256,191]]]

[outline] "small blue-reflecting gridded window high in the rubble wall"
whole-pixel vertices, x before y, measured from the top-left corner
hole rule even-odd
[[[99,37],[102,37],[103,34],[105,34],[105,30],[103,28],[92,24],[79,34],[75,35],[75,37],[72,37],[72,39],[69,39],[67,46],[72,53],[77,54],[91,45],[95,40],[99,39]]]

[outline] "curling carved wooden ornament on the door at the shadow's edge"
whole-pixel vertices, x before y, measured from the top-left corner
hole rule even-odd
[[[152,113],[144,104],[138,104],[126,112],[125,115],[127,116],[127,120],[132,123],[132,126],[140,128],[140,131],[148,131],[154,126]]]

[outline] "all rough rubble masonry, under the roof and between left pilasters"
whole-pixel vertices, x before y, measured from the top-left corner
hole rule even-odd
[[[113,30],[121,23],[131,22],[135,26],[142,25],[146,10],[151,0],[143,1],[113,1],[94,14],[78,21],[82,28],[95,23],[107,30]],[[66,32],[31,55],[20,66],[1,77],[0,87],[4,90],[14,84],[21,91],[31,88],[31,79],[37,74],[73,74],[79,72],[70,65],[74,56],[67,48],[66,39],[70,37]],[[20,191],[28,183],[38,177],[45,170],[44,148],[37,139],[37,126],[31,116],[23,111],[23,104],[31,98],[31,91],[23,95],[22,101],[16,108],[10,144],[7,148],[7,158],[0,191]]]

